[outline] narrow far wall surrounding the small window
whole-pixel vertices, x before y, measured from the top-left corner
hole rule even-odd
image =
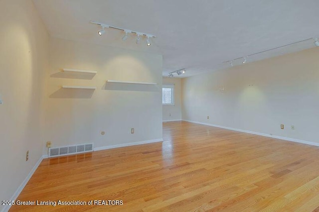
[[[163,77],[163,84],[174,83],[174,105],[163,105],[163,121],[181,120],[181,79]],[[169,115],[170,114],[170,115]]]

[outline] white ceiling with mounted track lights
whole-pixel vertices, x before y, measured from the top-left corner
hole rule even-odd
[[[33,0],[53,37],[163,55],[163,76],[229,67],[224,61],[319,36],[319,0]],[[154,34],[152,45],[123,31]],[[257,54],[248,62],[314,47],[314,40]],[[233,62],[241,64],[240,60]]]

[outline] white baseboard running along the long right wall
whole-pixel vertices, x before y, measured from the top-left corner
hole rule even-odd
[[[238,132],[246,132],[246,133],[250,133],[250,134],[254,134],[254,135],[261,135],[261,136],[266,136],[266,137],[271,137],[271,138],[277,138],[277,139],[286,140],[286,141],[293,141],[293,142],[297,142],[297,143],[309,144],[309,145],[313,145],[313,146],[319,146],[319,143],[312,142],[312,141],[304,141],[304,140],[299,140],[299,139],[295,139],[295,138],[270,135],[270,134],[265,134],[265,133],[261,133],[261,132],[253,132],[253,131],[248,131],[248,130],[243,130],[243,129],[231,128],[231,127],[227,127],[227,126],[219,126],[219,125],[209,124],[209,123],[204,123],[204,122],[199,122],[199,121],[191,121],[191,120],[183,120],[183,121],[197,123],[197,124],[203,124],[203,125],[207,125],[207,126],[214,126],[214,127],[234,130],[234,131],[238,131]]]

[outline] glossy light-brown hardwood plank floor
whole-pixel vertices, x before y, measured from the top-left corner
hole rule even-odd
[[[123,205],[15,205],[10,211],[312,212],[319,207],[319,147],[184,121],[163,123],[163,139],[44,159],[17,198],[122,200]]]

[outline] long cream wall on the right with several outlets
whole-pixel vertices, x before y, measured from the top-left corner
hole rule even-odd
[[[312,48],[185,78],[182,118],[319,143],[318,58]]]

